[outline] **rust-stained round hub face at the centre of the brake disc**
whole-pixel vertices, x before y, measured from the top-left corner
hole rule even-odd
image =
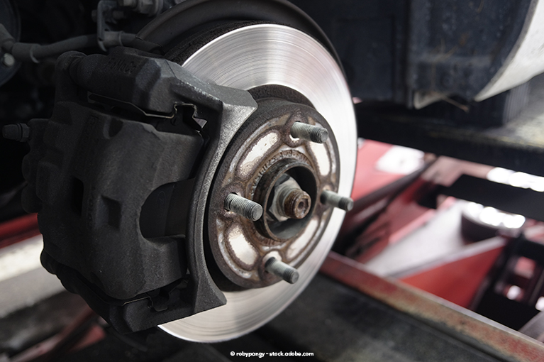
[[[338,190],[338,146],[327,121],[310,106],[279,99],[258,102],[223,157],[211,189],[208,236],[213,260],[240,287],[266,287],[281,278],[265,270],[274,257],[296,268],[321,238],[331,207],[321,190]],[[324,143],[291,136],[295,122],[326,128]],[[223,207],[228,194],[259,203],[257,221]]]

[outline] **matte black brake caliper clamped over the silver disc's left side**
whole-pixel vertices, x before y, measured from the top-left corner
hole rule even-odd
[[[53,114],[29,122],[23,204],[38,212],[45,268],[118,331],[226,303],[186,226],[223,110],[237,106],[256,104],[138,50],[59,58]]]

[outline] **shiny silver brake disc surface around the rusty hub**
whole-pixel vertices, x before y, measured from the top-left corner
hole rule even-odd
[[[326,190],[336,191],[340,195],[350,195],[357,153],[353,104],[340,67],[326,48],[311,36],[279,24],[259,23],[243,26],[210,40],[194,51],[182,65],[197,77],[226,87],[251,90],[263,86],[281,86],[292,89],[295,94],[301,94],[322,117],[322,123],[326,123],[321,126],[329,129],[331,141],[328,141],[326,148],[328,153],[325,157],[328,158],[327,162],[335,163],[334,172],[316,176],[316,190],[310,195],[310,201],[314,205],[319,203],[318,194],[321,188],[317,190],[318,187],[325,187]],[[256,136],[260,137],[258,134]],[[236,139],[232,141],[231,149],[235,148],[232,145],[236,141]],[[274,148],[273,152],[279,154],[284,151]],[[292,168],[301,168],[306,170],[304,172],[310,173],[318,172],[319,165],[316,163],[323,157],[322,155],[306,152],[300,145],[292,145],[292,150],[288,153],[287,156],[278,156],[289,159],[289,165],[284,166],[285,172]],[[216,179],[229,167],[230,165],[223,163]],[[257,185],[259,181],[260,179],[254,180],[254,184]],[[214,185],[216,184],[217,182]],[[310,209],[310,206],[308,208]],[[305,212],[310,215],[318,212],[317,207],[311,210]],[[249,283],[243,286],[250,289],[225,291],[227,303],[222,307],[162,324],[160,327],[167,333],[190,341],[224,341],[257,329],[282,312],[304,290],[318,271],[331,249],[345,215],[343,210],[333,208],[321,207],[319,212],[322,224],[311,233],[304,247],[293,256],[299,272],[299,280],[294,285],[277,280]],[[209,212],[209,219],[215,220],[217,217],[218,212],[215,214]],[[304,220],[304,217],[301,220]],[[288,235],[289,238],[304,234],[311,224],[311,217],[304,222],[301,221],[298,229],[293,231],[294,234]],[[256,227],[258,229],[258,226]],[[270,236],[266,232],[265,235]],[[269,239],[275,240],[274,235]],[[279,241],[274,242],[281,243],[282,235],[277,236]],[[217,237],[214,231],[210,233],[210,238],[212,237]],[[215,239],[210,240],[210,243],[214,241]],[[214,257],[218,259],[217,251]],[[260,272],[257,270],[256,273],[262,275],[262,270]],[[231,280],[237,278],[235,275],[230,276]]]

